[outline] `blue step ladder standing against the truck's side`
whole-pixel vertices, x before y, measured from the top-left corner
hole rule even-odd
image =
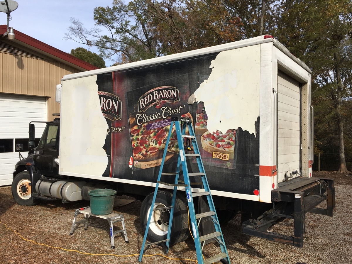
[[[178,146],[179,146],[179,154],[178,154],[178,161],[177,161],[177,171],[176,172],[172,172],[172,173],[162,173],[163,171],[163,166],[165,163],[165,157],[166,157],[166,152],[168,149],[168,145],[170,142],[170,136],[171,136],[171,131],[172,131],[172,127],[174,126],[176,127],[176,135],[177,135],[177,141],[178,141]],[[182,126],[182,129],[181,129]],[[188,127],[188,134],[186,135],[187,132],[187,128]],[[186,144],[185,144],[186,142]],[[191,144],[190,144],[191,143]],[[186,154],[185,150],[188,152],[194,151],[191,154]],[[199,172],[192,172],[189,173],[188,169],[187,169],[187,162],[186,162],[186,157],[188,156],[192,156],[195,157],[197,160],[197,164],[199,167]],[[179,174],[180,174],[180,166],[182,165],[182,172],[183,172],[183,179],[184,179],[184,184],[180,184],[178,180]],[[170,183],[165,183],[161,181],[161,177],[163,175],[175,175],[175,182],[172,184]],[[203,184],[203,189],[205,191],[203,192],[198,192],[198,193],[192,193],[191,192],[191,184],[192,182],[189,181],[189,177],[190,176],[201,176],[202,178],[202,184]],[[183,183],[183,182],[182,182]],[[160,244],[164,247],[165,249],[165,254],[168,253],[169,251],[169,242],[170,242],[170,234],[171,234],[171,226],[172,226],[172,218],[174,215],[174,206],[175,206],[175,201],[176,201],[176,192],[177,192],[177,187],[185,187],[186,188],[186,198],[187,198],[187,202],[188,202],[188,209],[189,209],[189,215],[190,215],[190,229],[192,230],[193,233],[193,238],[194,238],[194,244],[195,244],[195,248],[196,248],[196,253],[197,253],[197,260],[198,263],[200,264],[210,264],[213,263],[215,261],[220,260],[222,263],[225,264],[230,264],[230,257],[228,256],[227,253],[227,249],[225,246],[225,241],[224,241],[224,237],[222,236],[222,232],[221,232],[221,228],[220,228],[220,224],[219,224],[219,219],[218,219],[218,215],[216,214],[216,210],[215,210],[215,206],[214,206],[214,202],[213,202],[213,198],[212,195],[210,193],[210,189],[209,189],[209,184],[208,184],[208,180],[205,174],[205,170],[203,167],[203,162],[200,156],[200,152],[199,152],[199,148],[195,139],[195,134],[194,134],[194,130],[193,130],[193,126],[192,123],[190,121],[190,119],[188,118],[184,118],[184,117],[172,117],[171,118],[171,124],[170,124],[170,129],[169,129],[169,134],[165,143],[165,150],[164,150],[164,155],[163,155],[163,159],[161,162],[161,166],[160,166],[160,170],[159,170],[159,175],[158,175],[158,180],[156,183],[156,187],[155,187],[155,191],[154,191],[154,196],[153,196],[153,200],[151,203],[151,207],[150,208],[154,208],[154,204],[155,204],[155,200],[156,200],[156,195],[157,195],[157,191],[159,188],[159,184],[164,184],[164,185],[168,185],[168,186],[173,186],[174,187],[174,193],[172,196],[172,202],[171,202],[171,206],[169,207],[163,207],[163,208],[156,208],[154,210],[150,210],[149,212],[149,216],[148,216],[148,221],[147,221],[147,225],[146,225],[146,230],[144,233],[144,239],[143,239],[143,243],[142,243],[142,248],[140,250],[140,254],[139,254],[139,259],[138,261],[141,262],[142,261],[142,257],[144,252],[148,249],[149,246],[154,245],[154,244]],[[200,183],[193,183],[193,184],[200,184]],[[205,196],[207,198],[207,202],[208,202],[208,206],[209,206],[209,212],[204,212],[204,213],[195,213],[195,209],[194,209],[194,203],[193,203],[193,197],[196,196]],[[153,243],[148,243],[146,244],[146,240],[147,240],[147,234],[149,231],[149,226],[150,226],[150,221],[152,218],[152,213],[155,210],[170,210],[170,219],[169,219],[169,227],[168,227],[168,235],[166,237],[165,240],[161,240],[161,241],[157,241],[157,242],[153,242]],[[214,227],[215,227],[215,232],[210,233],[210,234],[206,234],[206,235],[199,235],[199,224],[202,218],[210,218],[212,220],[212,222],[214,223]],[[215,240],[219,243],[220,249],[221,249],[221,253],[216,254],[215,256],[212,256],[210,258],[203,258],[203,254],[202,254],[202,249],[204,247],[204,245],[206,244],[207,240]],[[203,244],[202,244],[203,243]]]

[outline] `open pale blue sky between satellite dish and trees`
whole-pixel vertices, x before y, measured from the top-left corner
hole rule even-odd
[[[36,38],[64,52],[70,52],[79,46],[88,46],[65,40],[68,33],[70,18],[79,19],[84,27],[94,26],[93,9],[96,6],[112,6],[113,0],[16,0],[18,8],[11,12],[12,20],[9,26],[22,33]],[[7,24],[6,13],[0,13],[0,25]],[[89,49],[98,53],[93,47]],[[106,61],[110,66],[114,62]]]

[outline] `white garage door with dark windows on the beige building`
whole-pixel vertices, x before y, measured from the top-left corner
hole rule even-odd
[[[47,121],[45,98],[0,94],[0,186],[12,183],[12,172],[19,161],[15,144],[22,143],[27,150],[30,121]],[[36,125],[36,138],[44,127]],[[27,157],[28,150],[21,154]]]

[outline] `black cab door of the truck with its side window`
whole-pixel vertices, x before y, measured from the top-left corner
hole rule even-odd
[[[58,125],[48,124],[34,152],[34,159],[40,174],[58,175],[58,165],[54,161],[58,155],[58,142]]]

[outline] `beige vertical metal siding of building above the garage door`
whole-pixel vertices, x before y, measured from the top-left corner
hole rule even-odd
[[[25,51],[0,49],[0,93],[48,97],[48,121],[53,120],[53,113],[60,112],[55,102],[56,85],[64,75],[78,72],[68,65],[46,61]]]

